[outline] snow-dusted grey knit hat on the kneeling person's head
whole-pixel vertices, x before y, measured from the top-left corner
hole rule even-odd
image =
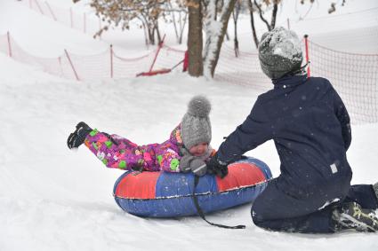
[[[259,43],[261,69],[270,79],[280,78],[301,68],[301,41],[293,31],[275,27],[261,36]]]

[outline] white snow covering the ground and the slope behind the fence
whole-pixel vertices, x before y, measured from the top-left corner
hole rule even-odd
[[[31,12],[16,1],[1,0],[0,34],[10,29],[25,50],[46,57],[59,55],[65,46],[91,52],[107,43],[47,18],[33,26],[41,17]],[[23,20],[33,15],[35,19]],[[21,22],[28,22],[30,28]],[[39,38],[32,35],[32,28],[40,32]],[[44,43],[46,39],[49,43]],[[71,82],[0,53],[0,250],[377,250],[374,233],[303,235],[261,230],[253,225],[250,204],[208,216],[215,223],[246,224],[245,230],[216,228],[197,216],[132,216],[118,208],[112,197],[113,184],[123,172],[106,169],[83,147],[67,148],[68,134],[80,121],[139,144],[162,142],[195,94],[205,94],[213,104],[215,148],[243,122],[258,95],[246,87],[180,72]],[[378,124],[354,126],[352,134],[348,152],[352,183],[374,183],[378,181]],[[279,174],[272,142],[248,155],[265,161],[274,176]]]

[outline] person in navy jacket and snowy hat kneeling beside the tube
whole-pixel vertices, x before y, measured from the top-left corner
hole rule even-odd
[[[224,169],[273,139],[281,174],[253,202],[253,223],[273,231],[377,231],[378,184],[350,186],[350,117],[325,78],[302,72],[301,42],[276,27],[262,35],[259,59],[274,89],[257,98],[207,168]]]

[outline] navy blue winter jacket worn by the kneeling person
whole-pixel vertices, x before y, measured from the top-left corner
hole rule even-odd
[[[235,161],[273,139],[281,161],[280,189],[313,192],[319,184],[339,180],[342,193],[347,192],[351,133],[342,99],[325,78],[286,76],[273,84],[274,89],[257,98],[245,122],[221,144],[218,161]]]

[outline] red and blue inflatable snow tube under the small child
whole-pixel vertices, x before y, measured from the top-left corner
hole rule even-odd
[[[195,194],[205,213],[252,202],[271,178],[262,161],[247,158],[229,164],[224,178],[199,178]],[[193,202],[192,173],[128,171],[117,179],[114,197],[119,207],[135,216],[176,217],[197,215]]]

